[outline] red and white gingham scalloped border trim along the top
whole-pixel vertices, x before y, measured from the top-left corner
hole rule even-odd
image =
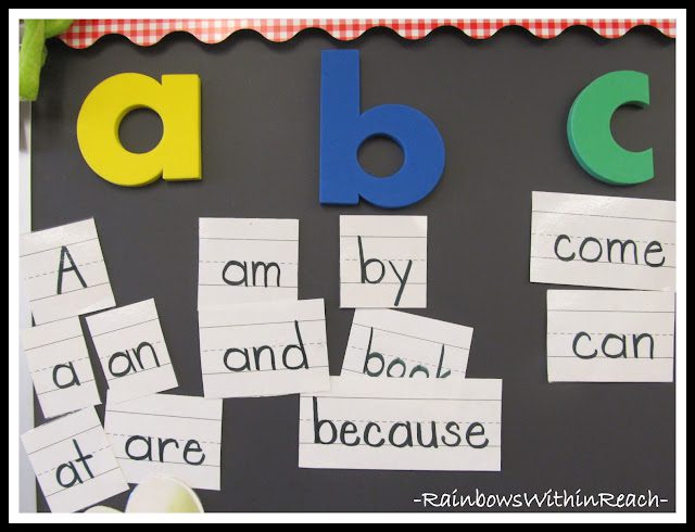
[[[327,18],[131,18],[75,21],[59,38],[72,48],[87,48],[100,37],[119,34],[136,45],[151,46],[172,31],[188,31],[202,42],[220,42],[239,29],[253,29],[266,39],[281,42],[294,37],[302,29],[321,28],[339,40],[352,40],[372,27],[388,27],[406,39],[420,39],[432,29],[452,26],[473,39],[486,39],[506,26],[521,26],[542,39],[557,37],[570,26],[587,26],[608,39],[623,36],[635,26],[653,26],[667,37],[675,38],[675,21],[671,18],[604,20],[604,18],[497,18],[497,20],[327,20]]]

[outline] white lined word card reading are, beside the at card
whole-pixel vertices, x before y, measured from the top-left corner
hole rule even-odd
[[[219,490],[222,400],[155,394],[114,404],[104,428],[126,481],[165,474]]]

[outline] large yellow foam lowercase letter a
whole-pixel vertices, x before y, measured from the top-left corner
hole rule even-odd
[[[162,118],[160,143],[147,153],[126,150],[118,138],[121,121],[148,107]],[[162,76],[117,74],[85,99],[77,117],[77,142],[89,167],[115,185],[139,187],[162,176],[200,179],[200,78],[194,74]]]

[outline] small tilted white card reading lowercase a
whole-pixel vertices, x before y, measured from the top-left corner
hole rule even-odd
[[[43,416],[101,403],[79,318],[24,329],[22,346]]]

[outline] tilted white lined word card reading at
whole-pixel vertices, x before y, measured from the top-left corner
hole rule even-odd
[[[77,511],[128,490],[93,407],[22,434],[51,511]]]

